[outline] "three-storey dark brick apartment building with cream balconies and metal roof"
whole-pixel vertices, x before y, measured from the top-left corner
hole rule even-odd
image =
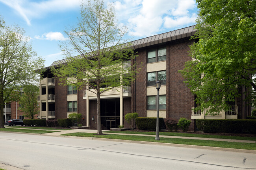
[[[178,70],[184,69],[185,62],[191,60],[188,51],[195,33],[195,26],[177,29],[167,33],[142,38],[132,42],[137,52],[137,63],[142,63],[142,69],[136,74],[136,80],[131,86],[121,86],[117,90],[102,93],[101,122],[106,128],[128,124],[124,121],[127,113],[137,112],[139,117],[156,117],[155,82],[161,81],[160,117],[192,119],[189,130],[195,130],[195,119],[241,119],[250,113],[245,104],[245,96],[236,99],[229,112],[221,112],[217,116],[193,112],[195,96],[183,83],[184,79]],[[66,60],[54,62],[51,66],[65,63]],[[71,86],[59,86],[46,67],[43,79],[40,81],[39,119],[63,119],[70,113],[81,113],[83,126],[96,129],[96,95],[89,90],[77,91]],[[245,89],[241,88],[241,94]]]

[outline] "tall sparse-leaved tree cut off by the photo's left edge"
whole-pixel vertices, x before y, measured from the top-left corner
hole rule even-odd
[[[4,128],[4,104],[17,99],[22,84],[36,81],[36,69],[44,60],[32,50],[30,37],[19,26],[6,26],[0,17],[0,128]]]

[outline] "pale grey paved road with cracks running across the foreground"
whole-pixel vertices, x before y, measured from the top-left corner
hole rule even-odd
[[[256,154],[0,132],[0,163],[25,170],[256,170]]]

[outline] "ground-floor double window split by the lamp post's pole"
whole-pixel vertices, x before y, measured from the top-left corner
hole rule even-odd
[[[157,96],[148,96],[148,110],[156,110],[156,97]],[[159,109],[166,109],[166,95],[159,96]]]

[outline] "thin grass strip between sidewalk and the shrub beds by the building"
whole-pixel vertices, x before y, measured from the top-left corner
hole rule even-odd
[[[106,133],[129,133],[129,134],[156,135],[156,132],[133,132],[133,131],[106,131]],[[159,132],[159,135],[186,136],[186,137],[205,137],[205,138],[217,138],[217,139],[237,139],[237,140],[256,141],[256,137],[206,135],[206,134],[178,133],[178,132]]]

